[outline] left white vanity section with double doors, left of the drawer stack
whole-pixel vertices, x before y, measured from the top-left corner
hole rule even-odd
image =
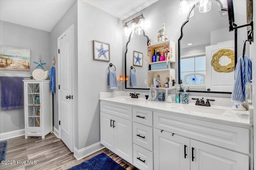
[[[132,107],[100,102],[100,143],[132,163]]]

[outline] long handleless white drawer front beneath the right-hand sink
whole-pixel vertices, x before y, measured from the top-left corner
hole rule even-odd
[[[249,129],[154,112],[154,127],[249,154]]]

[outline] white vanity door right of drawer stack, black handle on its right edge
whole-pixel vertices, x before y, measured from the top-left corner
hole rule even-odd
[[[154,170],[189,170],[189,148],[190,139],[154,129]]]

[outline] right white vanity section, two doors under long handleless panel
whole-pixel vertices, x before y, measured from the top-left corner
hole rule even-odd
[[[249,129],[159,112],[153,121],[154,170],[249,170]]]

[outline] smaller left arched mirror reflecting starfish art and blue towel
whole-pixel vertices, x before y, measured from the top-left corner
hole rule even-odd
[[[148,89],[145,84],[147,77],[148,66],[145,61],[145,57],[148,53],[148,36],[145,35],[145,31],[142,30],[142,35],[130,34],[126,43],[126,51],[124,53],[124,72],[125,77],[128,76],[128,80],[125,82],[126,89]],[[131,81],[130,75],[134,79],[136,77],[136,83]]]

